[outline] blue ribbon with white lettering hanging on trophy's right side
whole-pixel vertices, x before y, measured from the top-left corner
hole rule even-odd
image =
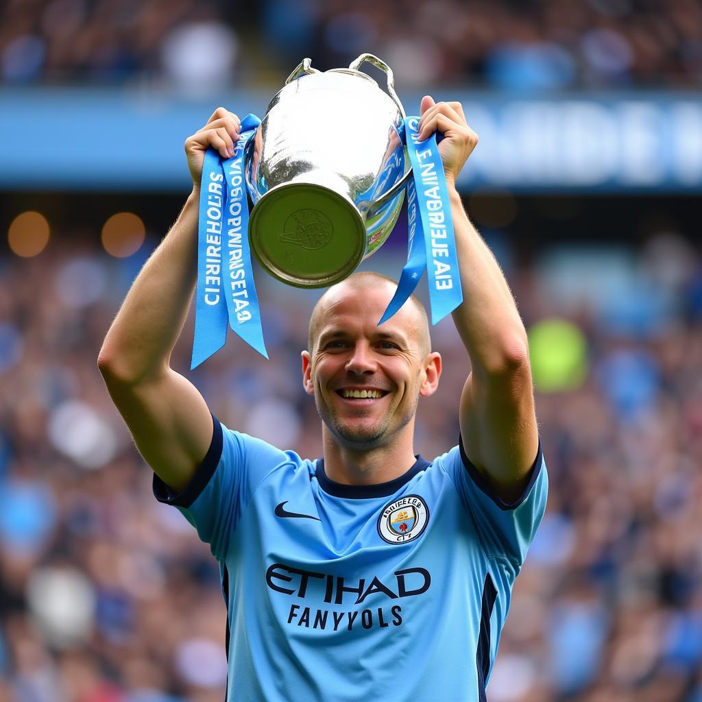
[[[404,305],[425,268],[429,279],[432,324],[440,322],[446,314],[453,312],[463,302],[449,190],[446,187],[437,135],[434,134],[420,142],[418,124],[419,117],[406,117],[404,120],[407,152],[413,175],[413,182],[409,183],[407,188],[407,263],[402,269],[395,295],[378,322],[379,325],[387,322]],[[416,217],[417,210],[419,220]],[[420,227],[422,237],[415,236],[416,226]]]

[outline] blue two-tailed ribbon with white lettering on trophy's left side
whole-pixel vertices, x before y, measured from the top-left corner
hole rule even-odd
[[[227,319],[232,331],[268,357],[253,284],[244,176],[244,147],[259,124],[256,115],[244,117],[231,159],[220,159],[212,148],[205,152],[200,183],[191,370],[223,347]]]

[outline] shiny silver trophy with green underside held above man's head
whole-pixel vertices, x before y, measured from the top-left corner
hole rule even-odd
[[[388,92],[362,73],[370,62]],[[332,285],[377,251],[397,221],[411,166],[390,67],[364,53],[318,71],[305,58],[246,144],[251,249],[274,277]]]

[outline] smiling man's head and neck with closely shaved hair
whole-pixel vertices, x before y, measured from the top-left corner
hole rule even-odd
[[[436,389],[441,357],[430,353],[427,315],[415,297],[377,326],[396,287],[357,273],[312,312],[303,383],[322,418],[327,472],[338,482],[384,482],[415,461],[417,403]]]

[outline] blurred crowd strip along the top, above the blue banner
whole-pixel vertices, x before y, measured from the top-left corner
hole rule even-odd
[[[702,83],[699,0],[7,0],[0,19],[4,84],[279,86],[366,51],[404,86]]]

